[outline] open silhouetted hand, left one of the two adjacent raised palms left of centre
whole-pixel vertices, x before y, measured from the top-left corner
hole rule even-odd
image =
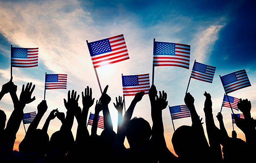
[[[76,109],[78,108],[78,99],[79,99],[79,94],[77,95],[77,92],[74,92],[74,90],[72,90],[72,93],[70,96],[70,90],[69,90],[68,100],[64,99],[64,105],[67,111],[75,113]]]

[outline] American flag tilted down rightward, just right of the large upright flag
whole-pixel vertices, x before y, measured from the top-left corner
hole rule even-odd
[[[212,83],[215,70],[216,67],[201,64],[195,61],[191,72],[191,77],[197,80],[201,80],[203,82]]]

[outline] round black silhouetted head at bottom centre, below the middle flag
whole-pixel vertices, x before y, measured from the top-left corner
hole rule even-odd
[[[131,148],[148,143],[151,137],[148,121],[134,117],[126,127],[126,137]]]

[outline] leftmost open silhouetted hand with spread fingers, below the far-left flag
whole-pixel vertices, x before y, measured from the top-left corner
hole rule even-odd
[[[29,104],[29,103],[33,102],[36,99],[36,97],[33,97],[31,99],[31,95],[32,95],[32,93],[35,89],[35,85],[33,85],[33,87],[31,88],[32,83],[28,83],[26,85],[25,89],[24,89],[24,86],[25,85],[23,84],[22,90],[21,90],[21,93],[20,93],[20,104],[25,105],[25,104]]]

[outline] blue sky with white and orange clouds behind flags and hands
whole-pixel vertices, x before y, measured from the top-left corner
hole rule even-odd
[[[13,68],[13,82],[18,85],[19,96],[22,84],[33,82],[36,100],[28,104],[24,112],[37,112],[37,105],[44,99],[44,78],[47,74],[68,74],[67,89],[46,90],[48,110],[38,128],[42,128],[50,111],[58,108],[66,112],[63,98],[68,90],[78,93],[86,86],[92,87],[92,95],[100,98],[100,89],[86,44],[119,34],[125,37],[130,59],[97,68],[102,89],[108,84],[110,115],[114,131],[117,131],[118,114],[113,106],[115,97],[122,95],[121,74],[150,74],[152,77],[153,39],[162,42],[191,45],[189,70],[181,67],[162,66],[155,68],[154,84],[158,90],[167,92],[169,106],[184,104],[189,76],[193,62],[217,67],[213,83],[191,79],[188,92],[195,97],[198,115],[203,118],[203,93],[212,96],[215,117],[220,111],[224,89],[219,75],[246,69],[251,87],[240,89],[229,95],[248,98],[252,103],[251,114],[256,117],[256,3],[255,1],[151,1],[151,0],[34,0],[0,1],[0,84],[10,79],[10,45],[23,48],[39,48],[37,67]],[[128,108],[133,97],[125,97]],[[82,99],[79,99],[82,107]],[[94,113],[95,104],[89,112]],[[13,111],[10,95],[0,102],[7,120]],[[241,113],[234,110],[235,113]],[[231,111],[223,108],[223,120],[231,136]],[[100,113],[102,115],[102,112]],[[143,117],[152,126],[148,95],[136,105],[133,117]],[[89,116],[88,116],[89,117]],[[174,132],[169,109],[163,110],[164,135],[169,150],[174,153],[172,134]],[[191,118],[174,120],[175,128],[191,125]],[[205,124],[205,134],[206,128]],[[61,122],[56,118],[50,122],[48,134],[59,130]],[[25,125],[27,128],[28,125]],[[77,122],[72,127],[76,135]],[[234,125],[238,138],[245,140],[243,132]],[[90,132],[91,126],[88,126]],[[102,129],[98,128],[97,134]],[[17,133],[14,149],[24,138],[23,124]],[[125,146],[128,147],[127,141]]]

